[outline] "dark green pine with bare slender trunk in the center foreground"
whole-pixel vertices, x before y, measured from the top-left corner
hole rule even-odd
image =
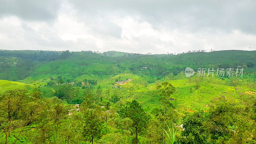
[[[133,128],[135,129],[136,139],[138,143],[138,134],[147,128],[150,120],[150,115],[141,108],[141,105],[136,100],[132,100],[129,106],[123,107],[119,111],[120,117],[130,118],[133,121]]]

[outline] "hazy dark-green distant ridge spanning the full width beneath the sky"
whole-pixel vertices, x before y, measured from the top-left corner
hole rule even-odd
[[[56,79],[61,76],[64,81],[73,81],[88,76],[101,78],[124,72],[150,76],[150,81],[152,81],[155,77],[162,79],[170,73],[177,75],[186,67],[193,69],[200,67],[236,68],[238,65],[247,65],[251,68],[248,69],[250,71],[255,71],[256,67],[256,51],[191,52],[180,55],[131,54],[130,56],[127,53],[124,53],[124,56],[122,52],[115,51],[111,51],[113,56],[103,53],[70,52],[68,57],[56,60],[51,60],[48,57],[52,53],[58,57],[61,52],[3,50],[0,53],[0,61],[3,62],[0,66],[0,78],[12,81],[21,80],[20,82],[29,84],[32,84],[34,79],[44,81],[44,79],[47,80],[51,77]],[[34,57],[44,57],[44,59],[34,60]],[[13,60],[17,64],[14,65]],[[9,73],[7,74],[6,71]],[[11,73],[12,75],[10,75]],[[81,77],[79,78],[79,76]],[[23,79],[26,77],[31,77],[32,81],[28,79],[24,81]]]

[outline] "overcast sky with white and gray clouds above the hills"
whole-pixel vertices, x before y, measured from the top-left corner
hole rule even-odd
[[[256,0],[0,0],[0,49],[256,50]]]

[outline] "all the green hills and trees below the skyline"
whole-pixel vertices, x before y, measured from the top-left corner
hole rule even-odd
[[[256,143],[256,51],[0,56],[0,144]],[[240,66],[242,77],[184,74]]]

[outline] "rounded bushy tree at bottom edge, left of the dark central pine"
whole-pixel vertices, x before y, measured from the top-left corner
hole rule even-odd
[[[84,136],[86,139],[91,139],[93,144],[93,138],[101,137],[102,122],[96,115],[95,110],[86,110],[84,112]]]

